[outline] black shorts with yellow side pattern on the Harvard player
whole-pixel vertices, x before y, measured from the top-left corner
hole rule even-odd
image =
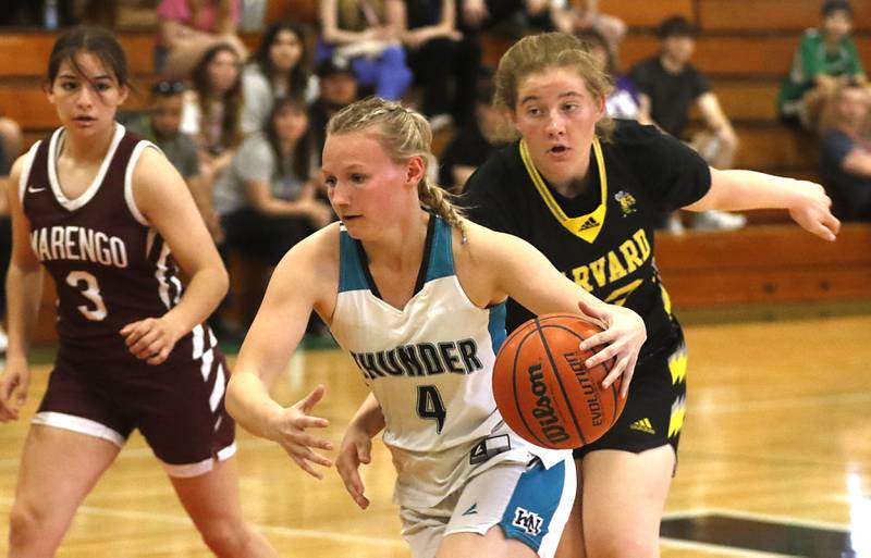
[[[639,362],[623,414],[601,438],[576,448],[575,458],[597,449],[640,454],[666,444],[677,454],[686,406],[686,369],[683,337],[675,349],[654,352]]]

